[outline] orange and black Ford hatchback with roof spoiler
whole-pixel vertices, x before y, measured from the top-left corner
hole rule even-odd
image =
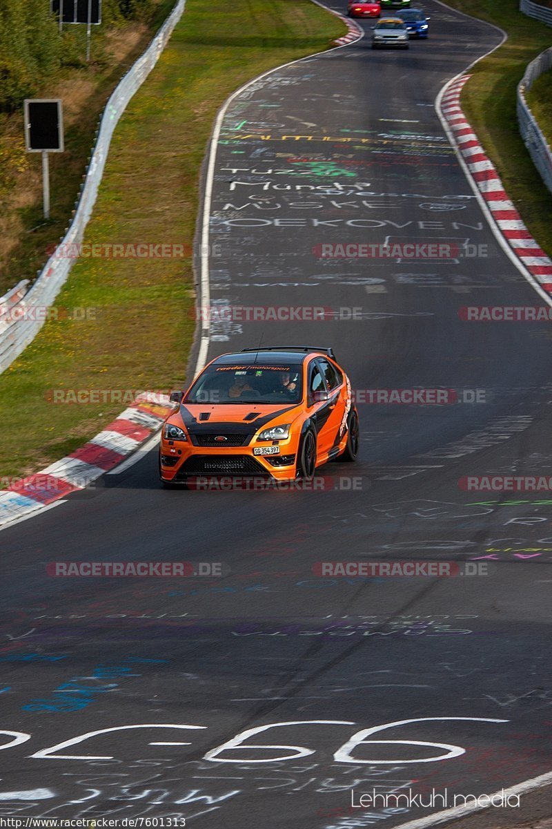
[[[331,348],[245,348],[205,366],[161,433],[167,485],[225,476],[310,480],[334,458],[354,461],[358,412]]]

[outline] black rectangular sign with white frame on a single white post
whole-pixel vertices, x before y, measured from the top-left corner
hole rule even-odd
[[[25,146],[27,153],[42,153],[44,217],[50,218],[50,168],[48,153],[63,153],[63,112],[60,99],[26,99]]]

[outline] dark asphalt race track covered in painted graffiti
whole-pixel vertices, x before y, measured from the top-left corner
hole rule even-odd
[[[151,452],[2,531],[0,814],[395,827],[442,799],[351,808],[351,790],[358,801],[401,787],[427,803],[434,789],[451,806],[550,770],[550,493],[458,485],[550,473],[550,331],[458,313],[543,303],[497,245],[434,111],[500,35],[425,7],[429,41],[393,52],[366,38],[276,70],[228,110],[214,307],[331,310],[318,322],[215,315],[209,356],[261,337],[328,343],[359,397],[442,387],[458,402],[358,405],[358,463],[320,470],[323,489],[165,492]],[[313,254],[385,240],[487,251]],[[55,579],[55,560],[220,562],[223,576]],[[487,574],[316,574],[341,560]],[[497,807],[506,826],[518,811]]]

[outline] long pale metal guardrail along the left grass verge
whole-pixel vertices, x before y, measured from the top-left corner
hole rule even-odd
[[[99,122],[96,142],[89,161],[89,167],[81,185],[79,201],[76,204],[73,221],[66,230],[60,245],[78,245],[84,236],[84,229],[92,215],[102,180],[103,168],[108,157],[113,132],[127,107],[132,95],[140,88],[147,75],[159,60],[170,35],[184,12],[185,0],[177,0],[170,16],[151,41],[146,51],[122,77],[113,90]],[[50,256],[35,284],[22,294],[20,283],[5,296],[0,297],[0,374],[19,356],[36,337],[46,321],[45,309],[49,308],[69,276],[74,259]],[[24,286],[26,287],[26,286]],[[14,291],[17,302],[13,302]]]

